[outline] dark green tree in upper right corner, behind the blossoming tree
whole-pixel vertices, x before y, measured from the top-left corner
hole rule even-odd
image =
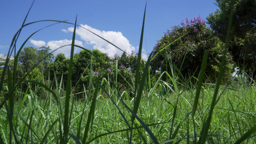
[[[207,17],[207,23],[222,42],[226,40],[231,3],[216,0],[219,9]],[[229,52],[240,72],[244,70],[256,80],[256,0],[234,0]]]

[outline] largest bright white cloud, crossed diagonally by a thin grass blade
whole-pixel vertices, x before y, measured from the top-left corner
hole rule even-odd
[[[121,48],[123,51],[127,53],[132,53],[135,51],[135,47],[133,47],[129,40],[122,35],[121,32],[113,32],[113,31],[100,31],[98,29],[92,28],[88,25],[81,24],[80,26],[94,32],[98,36],[105,38],[110,41],[112,44],[116,45],[118,48]],[[107,52],[111,58],[114,57],[114,54],[122,55],[122,51],[118,48],[112,46],[110,43],[101,39],[100,37],[92,34],[91,32],[85,30],[84,28],[78,27],[76,29],[76,34],[80,36],[82,40],[86,42],[86,44],[93,45],[94,49],[98,49],[102,52]],[[68,31],[73,32],[73,27],[68,28]]]

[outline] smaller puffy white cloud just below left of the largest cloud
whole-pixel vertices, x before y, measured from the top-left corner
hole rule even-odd
[[[70,45],[71,43],[72,43],[72,40],[64,39],[64,40],[59,40],[59,41],[49,41],[47,43],[47,46],[49,46],[51,50],[55,50],[57,48],[60,48],[61,46]],[[75,40],[74,44],[83,47],[82,41]],[[78,48],[75,47],[74,53],[76,53],[77,50],[78,50]],[[65,46],[65,47],[62,47],[62,48],[54,51],[53,54],[57,55],[58,53],[63,53],[63,54],[65,54],[66,57],[70,57],[70,52],[71,52],[71,46]]]

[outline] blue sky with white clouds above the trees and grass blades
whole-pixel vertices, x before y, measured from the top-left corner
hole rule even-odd
[[[0,54],[7,54],[12,38],[23,24],[24,18],[33,0],[1,0],[0,1]],[[204,20],[217,10],[215,0],[35,0],[25,24],[40,20],[58,20],[75,23],[77,27],[75,45],[99,49],[113,58],[121,56],[122,51],[90,33],[84,28],[107,39],[127,53],[138,52],[143,16],[146,6],[145,28],[142,46],[142,57],[147,59],[164,36],[167,29],[181,25],[186,18],[194,19],[201,16]],[[54,50],[63,45],[71,44],[73,24],[56,22],[38,22],[23,28],[16,48],[19,49],[29,38],[24,47],[39,48],[42,46]],[[84,28],[82,28],[84,27]],[[24,48],[23,47],[23,48]],[[75,48],[75,53],[81,49]],[[60,48],[53,53],[62,52],[70,57],[71,47]],[[14,55],[14,53],[12,53]]]

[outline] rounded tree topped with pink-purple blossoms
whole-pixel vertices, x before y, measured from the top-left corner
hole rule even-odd
[[[185,80],[188,80],[191,76],[198,77],[204,51],[208,49],[209,54],[205,74],[208,80],[214,82],[217,78],[222,59],[223,43],[219,41],[217,36],[214,36],[210,28],[206,27],[205,21],[200,16],[191,21],[186,18],[186,22],[182,21],[181,25],[182,27],[172,27],[171,31],[168,30],[165,36],[162,36],[153,49],[153,55],[156,55],[159,50],[187,33],[187,35],[170,45],[170,47],[164,49],[162,53],[180,70]],[[229,77],[233,72],[233,68],[230,55],[228,54],[227,57],[224,75]],[[156,55],[151,61],[151,67],[151,72],[153,73],[160,70],[171,71],[170,63],[167,63],[167,60],[160,54]],[[176,71],[176,73],[178,72]],[[178,76],[182,79],[181,75]]]

